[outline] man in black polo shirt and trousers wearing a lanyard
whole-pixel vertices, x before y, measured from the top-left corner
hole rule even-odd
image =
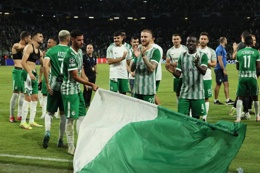
[[[89,82],[95,83],[97,77],[97,61],[96,57],[92,54],[94,51],[93,45],[87,45],[86,51],[87,53],[83,55],[84,71],[86,76],[88,77]],[[91,96],[92,90],[87,91],[86,87],[84,87],[83,97],[86,108],[90,106]]]

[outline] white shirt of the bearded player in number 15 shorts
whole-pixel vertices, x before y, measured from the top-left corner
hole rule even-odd
[[[208,62],[211,63],[211,60],[216,60],[217,61],[217,55],[216,55],[216,52],[215,50],[209,48],[209,47],[206,47],[205,49],[201,49],[200,47],[197,49],[198,51],[201,51],[203,52],[204,54],[207,55],[208,57]],[[203,79],[204,80],[211,80],[212,77],[211,77],[211,68],[208,67],[207,68],[207,71],[206,71],[206,74],[203,76]]]

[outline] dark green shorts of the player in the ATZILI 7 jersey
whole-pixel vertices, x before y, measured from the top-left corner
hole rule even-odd
[[[47,111],[57,112],[58,107],[60,111],[64,111],[61,91],[53,90],[53,95],[47,94]]]

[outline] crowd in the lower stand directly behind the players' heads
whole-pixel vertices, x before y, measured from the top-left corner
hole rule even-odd
[[[255,20],[248,20],[244,23],[228,23],[228,24],[204,24],[193,26],[191,23],[183,25],[159,25],[155,26],[153,23],[143,21],[96,21],[95,24],[88,24],[87,26],[75,26],[67,21],[52,21],[57,19],[39,18],[35,21],[35,24],[27,24],[24,21],[17,20],[15,17],[5,17],[1,21],[0,18],[0,57],[12,58],[11,48],[14,43],[20,41],[20,33],[22,31],[28,31],[33,33],[34,31],[41,31],[44,37],[44,43],[40,46],[41,50],[46,50],[48,39],[58,35],[60,30],[71,31],[73,29],[79,29],[84,32],[84,47],[83,52],[86,50],[87,44],[94,46],[94,54],[97,58],[106,58],[106,50],[110,43],[113,42],[113,33],[119,29],[125,29],[127,38],[126,42],[130,44],[132,36],[138,36],[140,38],[140,32],[143,29],[151,29],[154,32],[155,43],[160,45],[164,50],[164,57],[166,57],[167,50],[173,46],[172,35],[178,33],[181,35],[181,44],[185,45],[185,39],[189,34],[195,34],[199,37],[199,34],[206,31],[210,35],[210,41],[208,46],[212,49],[216,49],[219,45],[219,38],[226,37],[228,45],[226,51],[228,53],[227,58],[232,58],[233,42],[239,43],[241,41],[241,33],[244,30],[248,30],[250,34],[256,36],[257,45],[259,48],[259,22]],[[131,26],[131,28],[129,28]]]

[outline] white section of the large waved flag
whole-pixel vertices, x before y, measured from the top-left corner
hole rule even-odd
[[[80,125],[74,155],[74,172],[90,163],[122,127],[131,122],[153,120],[157,105],[99,88]]]

